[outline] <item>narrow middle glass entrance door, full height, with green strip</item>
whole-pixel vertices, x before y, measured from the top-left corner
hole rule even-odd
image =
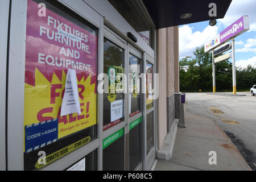
[[[141,58],[129,47],[129,170],[142,169]]]

